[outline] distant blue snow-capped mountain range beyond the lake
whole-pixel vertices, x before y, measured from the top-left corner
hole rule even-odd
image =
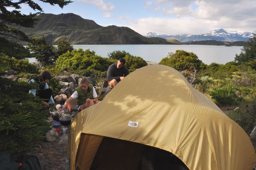
[[[151,33],[151,32],[150,32]],[[144,35],[145,37],[150,37],[150,33]],[[216,41],[248,41],[248,39],[253,35],[249,32],[239,32],[239,31],[231,31],[227,32],[224,29],[216,29],[210,31],[208,33],[200,33],[195,35],[188,34],[177,34],[177,35],[157,35],[157,33],[152,34],[154,37],[162,37],[165,39],[177,39],[180,42],[190,42],[190,41],[203,41],[203,40],[216,40]]]

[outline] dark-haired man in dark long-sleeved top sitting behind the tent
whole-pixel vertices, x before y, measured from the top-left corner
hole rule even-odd
[[[120,58],[117,63],[111,64],[107,69],[107,82],[110,88],[123,80],[129,74],[129,70],[125,67],[125,59]]]

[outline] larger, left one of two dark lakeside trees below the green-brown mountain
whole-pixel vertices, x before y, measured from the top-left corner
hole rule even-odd
[[[58,59],[55,46],[47,43],[44,36],[41,38],[32,38],[32,42],[27,47],[36,60],[43,65],[54,64]]]

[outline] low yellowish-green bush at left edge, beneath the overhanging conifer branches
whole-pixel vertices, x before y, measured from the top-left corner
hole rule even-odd
[[[26,60],[20,60],[15,58],[9,58],[6,56],[1,56],[1,66],[8,66],[9,69],[14,70],[17,72],[17,74],[21,72],[27,72],[30,74],[38,74],[38,68],[37,66],[31,64],[28,62],[28,59]]]

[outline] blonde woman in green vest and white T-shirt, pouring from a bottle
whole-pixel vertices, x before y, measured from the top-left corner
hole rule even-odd
[[[95,91],[95,88],[90,84],[87,78],[81,80],[80,86],[78,86],[76,91],[65,101],[65,104],[60,111],[64,110],[70,101],[76,100],[77,110],[80,112],[83,109],[92,106],[98,102],[98,95]]]

